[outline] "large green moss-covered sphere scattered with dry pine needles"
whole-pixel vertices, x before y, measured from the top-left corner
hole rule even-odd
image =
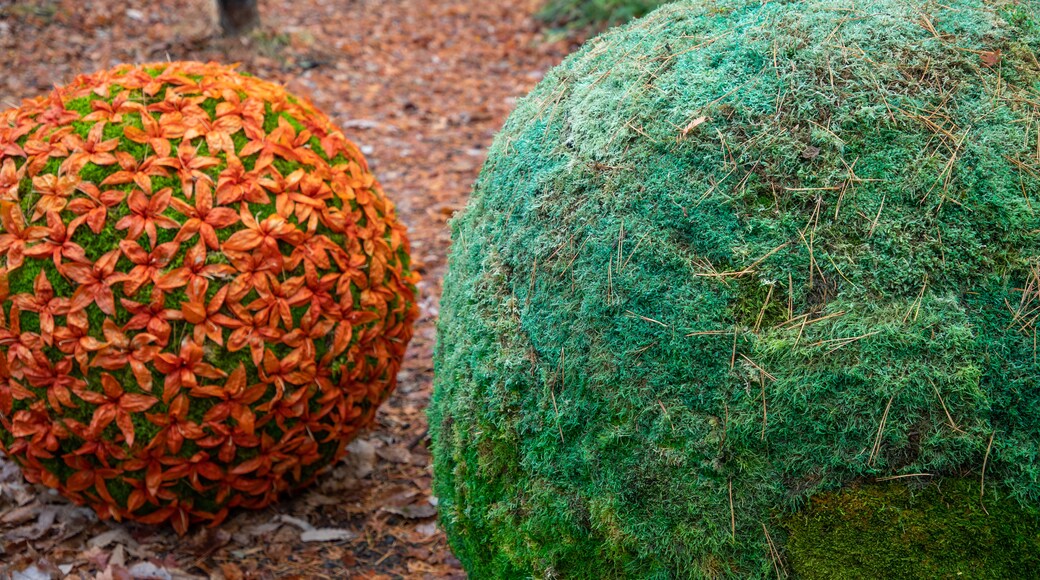
[[[467,570],[1034,576],[1037,15],[676,2],[548,74],[452,222]]]

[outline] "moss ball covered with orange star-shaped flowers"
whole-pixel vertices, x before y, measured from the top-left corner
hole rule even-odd
[[[396,384],[405,227],[313,106],[123,65],[0,113],[0,450],[102,518],[219,523],[307,485]]]

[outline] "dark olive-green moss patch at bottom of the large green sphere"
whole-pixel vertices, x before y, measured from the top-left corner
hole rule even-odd
[[[784,519],[798,578],[1029,578],[1040,570],[1040,511],[992,485],[946,479],[854,486]]]

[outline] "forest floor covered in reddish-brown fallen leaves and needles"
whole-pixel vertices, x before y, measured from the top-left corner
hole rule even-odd
[[[447,220],[516,99],[574,45],[532,20],[537,0],[261,0],[264,23],[242,38],[216,35],[213,4],[0,0],[0,108],[80,73],[167,59],[240,62],[309,97],[410,227],[422,316],[397,392],[314,487],[185,537],[98,522],[0,456],[0,579],[462,578],[436,525],[424,415]],[[339,539],[304,543],[310,527]]]

